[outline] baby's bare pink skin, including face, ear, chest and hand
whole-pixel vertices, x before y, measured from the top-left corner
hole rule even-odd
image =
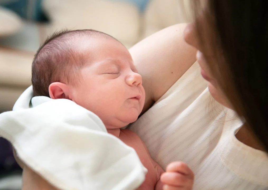
[[[115,39],[87,36],[77,39],[72,48],[83,52],[85,64],[72,83],[50,84],[50,97],[67,98],[92,111],[108,133],[136,150],[148,170],[139,189],[191,189],[193,173],[186,164],[173,162],[164,173],[143,141],[134,132],[120,129],[137,120],[145,101],[142,77],[128,50]]]

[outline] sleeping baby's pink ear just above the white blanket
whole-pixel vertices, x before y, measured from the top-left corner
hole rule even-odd
[[[52,99],[70,99],[69,86],[60,82],[51,83],[49,85],[49,96]]]

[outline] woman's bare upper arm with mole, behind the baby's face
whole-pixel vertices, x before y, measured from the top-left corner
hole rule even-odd
[[[165,28],[133,46],[129,51],[143,77],[148,110],[196,61],[196,49],[183,38],[186,24]]]

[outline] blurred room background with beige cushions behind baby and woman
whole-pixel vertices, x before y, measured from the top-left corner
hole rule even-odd
[[[0,0],[0,113],[12,110],[20,94],[31,85],[33,56],[51,33],[95,29],[130,48],[154,32],[187,22],[190,1]],[[2,189],[21,189],[21,169],[12,146],[0,138]]]

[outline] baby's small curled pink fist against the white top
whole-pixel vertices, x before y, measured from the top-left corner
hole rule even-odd
[[[193,188],[194,174],[183,162],[172,162],[166,167],[166,172],[160,177],[163,190],[177,190]]]

